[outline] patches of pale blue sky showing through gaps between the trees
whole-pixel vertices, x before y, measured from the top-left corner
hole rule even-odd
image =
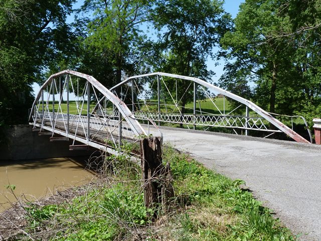
[[[245,2],[245,0],[225,0],[224,3],[224,9],[227,13],[230,13],[232,18],[235,18],[238,11],[239,11],[239,6],[241,3]],[[76,3],[73,5],[73,9],[78,9],[81,7],[83,3],[83,0],[78,0],[76,1]],[[67,17],[67,23],[71,23],[74,20],[74,16],[70,15]],[[214,48],[213,51],[217,51],[218,48]],[[212,59],[208,59],[206,64],[207,64],[207,68],[209,70],[214,71],[215,75],[213,76],[212,80],[214,82],[217,82],[217,80],[221,77],[221,75],[223,74],[223,68],[224,68],[224,60],[221,60],[218,62],[218,65],[215,65],[216,61],[213,61]],[[32,85],[33,90],[34,90],[34,95],[37,94],[40,90],[40,86],[37,83],[34,83]],[[58,96],[55,96],[58,97]],[[66,98],[66,93],[64,95],[64,98]],[[74,99],[74,96],[70,96],[70,99]]]

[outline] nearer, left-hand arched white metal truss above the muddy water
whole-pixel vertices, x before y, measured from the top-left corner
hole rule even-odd
[[[107,109],[117,111],[109,115]],[[41,86],[30,114],[40,133],[62,135],[85,146],[115,153],[123,140],[147,135],[126,104],[95,78],[72,70],[51,75]],[[100,111],[100,114],[97,114]],[[107,149],[106,149],[107,148]]]

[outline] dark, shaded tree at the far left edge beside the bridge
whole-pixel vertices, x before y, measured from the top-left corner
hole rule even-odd
[[[57,50],[72,0],[0,2],[0,123],[26,123],[31,84],[40,81]]]

